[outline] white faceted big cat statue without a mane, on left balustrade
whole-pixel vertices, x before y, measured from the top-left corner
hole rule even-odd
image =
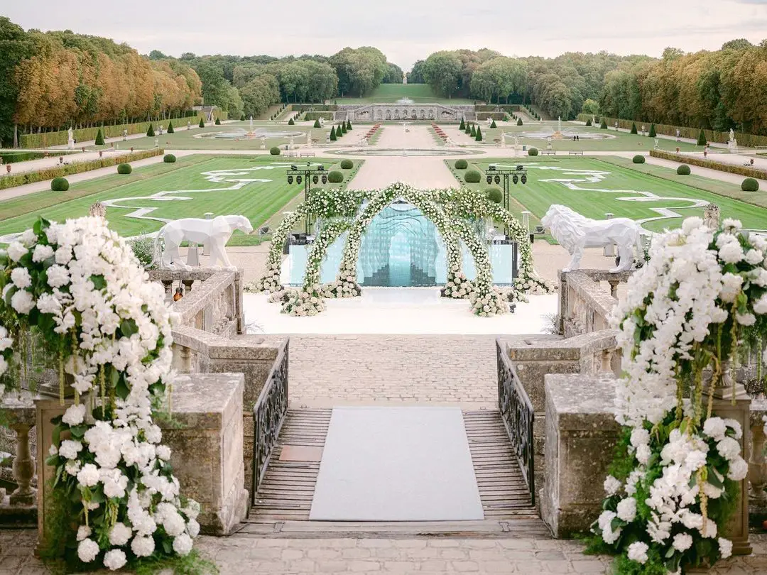
[[[244,215],[219,215],[212,219],[183,218],[168,222],[160,228],[154,240],[154,261],[159,261],[160,268],[191,269],[179,255],[179,245],[186,240],[198,245],[209,243],[211,267],[216,267],[220,261],[225,268],[235,269],[226,255],[225,248],[235,229],[249,234],[253,231],[253,226]],[[162,255],[160,238],[165,238],[165,251]]]

